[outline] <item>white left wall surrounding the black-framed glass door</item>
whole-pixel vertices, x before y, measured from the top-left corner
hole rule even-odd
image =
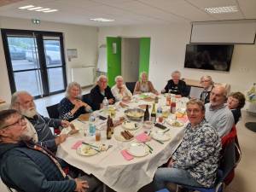
[[[96,65],[98,28],[95,26],[68,25],[44,20],[37,26],[33,25],[31,20],[0,17],[0,28],[63,32],[65,52],[67,49],[78,49],[78,58],[72,59],[72,61],[67,61],[65,53],[67,82],[71,80],[72,67]],[[0,41],[0,98],[9,102],[11,92],[2,38]]]

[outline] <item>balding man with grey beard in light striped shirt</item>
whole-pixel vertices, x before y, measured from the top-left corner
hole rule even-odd
[[[210,94],[210,102],[205,105],[206,119],[217,131],[219,137],[227,135],[235,123],[233,114],[224,103],[227,100],[227,90],[216,85]]]

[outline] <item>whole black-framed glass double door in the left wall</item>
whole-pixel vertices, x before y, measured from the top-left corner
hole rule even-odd
[[[63,92],[67,86],[60,32],[2,29],[12,93],[26,90],[35,97]]]

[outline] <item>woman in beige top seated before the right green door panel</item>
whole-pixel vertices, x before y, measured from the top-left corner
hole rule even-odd
[[[151,81],[148,81],[148,74],[146,72],[143,72],[140,75],[140,81],[137,81],[137,83],[135,84],[133,94],[136,95],[145,92],[152,92],[158,95],[158,92],[157,90],[154,90],[154,86]]]

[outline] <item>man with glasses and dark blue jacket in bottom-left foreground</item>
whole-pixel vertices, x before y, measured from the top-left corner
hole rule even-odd
[[[14,109],[0,112],[0,176],[20,192],[85,192],[99,186],[93,179],[67,177],[55,155],[27,137],[26,121]]]

